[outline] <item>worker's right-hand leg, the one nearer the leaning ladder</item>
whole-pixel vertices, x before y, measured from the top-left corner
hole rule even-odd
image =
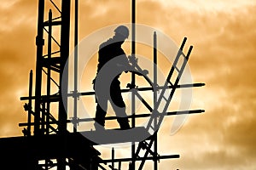
[[[116,116],[118,116],[117,121],[119,122],[119,126],[121,127],[121,129],[130,128],[125,111],[125,102],[121,94],[120,82],[117,79],[114,79],[111,84],[110,96],[112,99],[110,100],[110,103],[113,106],[113,111],[115,112]]]

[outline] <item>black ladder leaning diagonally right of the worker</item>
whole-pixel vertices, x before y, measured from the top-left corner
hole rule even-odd
[[[148,133],[153,133],[152,136],[156,135],[158,129],[160,128],[161,123],[163,122],[164,117],[166,116],[167,109],[171,103],[173,94],[175,93],[175,90],[177,88],[178,82],[183,74],[184,68],[189,60],[189,55],[192,51],[193,46],[189,47],[188,54],[183,54],[183,47],[185,45],[187,38],[184,37],[181,47],[179,48],[176,58],[172,64],[172,68],[169,71],[168,77],[166,78],[166,82],[164,86],[160,89],[160,96],[157,99],[156,103],[154,104],[154,110],[152,111],[152,116],[150,117],[148,121],[148,125],[146,127],[146,130]],[[179,60],[182,59],[182,64],[178,66]],[[177,71],[177,74],[174,77],[174,83],[171,82],[172,76],[174,71]],[[171,85],[171,92],[170,90]],[[167,95],[166,95],[167,94]],[[163,103],[164,102],[164,103]],[[163,106],[163,107],[162,107]],[[147,141],[148,140],[148,141]],[[135,152],[135,157],[140,158],[139,154],[141,150],[146,150],[144,152],[144,158],[148,157],[148,154],[151,156],[157,156],[158,154],[154,152],[154,150],[151,150],[152,145],[154,144],[154,138],[148,138],[140,142],[137,146],[137,150]],[[139,170],[143,169],[143,165],[145,163],[146,159],[143,159],[143,161],[140,162]],[[135,165],[133,165],[135,166]],[[129,167],[130,170],[135,169],[132,165]]]

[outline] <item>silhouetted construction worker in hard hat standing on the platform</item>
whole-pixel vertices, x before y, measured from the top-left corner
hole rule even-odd
[[[129,29],[126,26],[118,26],[114,30],[114,36],[109,38],[108,41],[102,42],[98,51],[98,65],[96,78],[99,78],[99,72],[102,71],[104,65],[111,63],[108,66],[108,70],[104,72],[102,79],[108,77],[108,73],[111,71],[119,70],[119,74],[113,77],[110,82],[110,88],[105,88],[105,82],[103,81],[99,87],[96,87],[96,79],[94,80],[94,89],[96,92],[96,118],[95,128],[96,130],[103,130],[105,126],[105,116],[108,109],[108,101],[113,107],[119,127],[121,129],[129,129],[129,121],[125,112],[125,102],[121,95],[119,76],[123,71],[127,71],[131,68],[129,61],[125,55],[125,51],[121,48],[121,45],[125,42],[125,39],[129,37]],[[101,78],[101,77],[100,77]],[[107,83],[107,82],[106,82]],[[105,91],[109,90],[109,94]],[[100,92],[99,92],[100,91]]]

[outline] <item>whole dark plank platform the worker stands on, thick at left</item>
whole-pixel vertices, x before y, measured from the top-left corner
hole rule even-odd
[[[50,134],[31,137],[0,139],[0,164],[9,169],[38,169],[38,160],[72,158],[84,167],[90,165],[93,157],[102,162],[101,153],[93,145],[141,142],[151,135],[145,127],[128,130],[107,129],[102,132],[86,131]]]

